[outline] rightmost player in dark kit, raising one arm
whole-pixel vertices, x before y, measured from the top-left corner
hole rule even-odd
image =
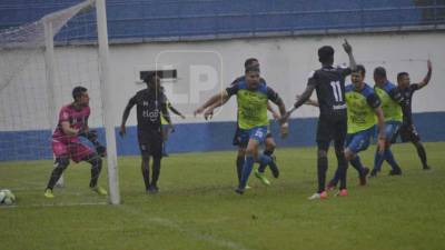
[[[413,122],[412,103],[414,92],[424,88],[429,82],[433,71],[433,67],[429,60],[427,61],[427,68],[428,72],[419,83],[411,84],[409,74],[407,72],[400,72],[397,74],[397,88],[400,91],[402,96],[405,98],[405,106],[402,107],[403,122],[400,129],[393,139],[393,141],[395,141],[397,139],[397,136],[399,134],[403,142],[411,141],[416,147],[418,158],[421,158],[423,169],[425,170],[431,168],[426,162],[425,148],[421,142],[421,137],[418,136],[416,127]]]

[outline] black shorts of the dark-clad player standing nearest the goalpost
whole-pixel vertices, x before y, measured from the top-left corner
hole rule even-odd
[[[139,149],[142,156],[162,157],[162,133],[160,131],[138,132]]]

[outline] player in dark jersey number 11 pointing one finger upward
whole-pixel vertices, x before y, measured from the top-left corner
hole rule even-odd
[[[308,198],[309,200],[327,198],[327,151],[332,140],[334,140],[340,181],[340,189],[337,194],[347,196],[347,161],[344,153],[347,131],[345,78],[352,73],[352,70],[355,70],[356,63],[353,56],[353,49],[346,40],[343,47],[346,53],[349,56],[350,68],[334,68],[334,49],[330,46],[324,46],[319,48],[318,60],[322,63],[322,69],[313,71],[309,74],[306,90],[294,104],[294,108],[289,110],[283,118],[283,120],[287,120],[290,113],[309,100],[313,91],[316,90],[320,111],[316,139],[318,147],[318,190]]]

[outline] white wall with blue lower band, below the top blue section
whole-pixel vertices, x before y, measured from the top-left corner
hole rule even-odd
[[[113,121],[120,123],[121,113],[129,98],[136,91],[145,88],[138,82],[140,70],[160,68],[174,68],[178,70],[176,81],[164,82],[172,104],[187,114],[186,120],[174,118],[178,131],[170,143],[174,151],[220,150],[230,149],[231,130],[236,120],[236,102],[230,100],[220,112],[216,113],[211,123],[201,117],[194,118],[192,110],[202,103],[211,94],[228,86],[233,79],[243,74],[243,63],[246,58],[258,58],[261,63],[261,74],[268,84],[274,88],[285,100],[287,106],[294,102],[296,93],[300,93],[306,86],[310,70],[317,69],[317,48],[330,44],[336,49],[336,63],[347,62],[347,57],[342,50],[343,37],[336,36],[307,36],[294,38],[264,38],[239,39],[199,42],[159,42],[139,44],[113,44],[110,48],[111,88],[115,100]],[[445,79],[445,32],[406,32],[394,34],[356,34],[347,36],[354,46],[354,53],[359,63],[368,70],[367,82],[373,84],[372,71],[377,66],[384,66],[389,79],[395,81],[396,73],[407,71],[413,81],[419,81],[426,73],[426,59],[433,61],[433,78],[431,84],[417,92],[414,97],[414,112],[426,113],[418,122],[422,128],[429,124],[438,124],[445,113],[445,88],[442,79]],[[97,51],[92,47],[57,48],[56,66],[57,82],[53,98],[57,109],[71,100],[73,86],[82,84],[90,89],[92,116],[91,127],[102,127],[101,118],[101,91],[97,73]],[[49,112],[48,94],[46,91],[46,76],[41,52],[36,52],[28,60],[28,64],[20,63],[17,52],[1,52],[0,86],[9,82],[9,86],[0,91],[0,159],[6,156],[18,156],[20,152],[43,152],[37,158],[50,156],[49,132],[55,126],[56,117]],[[202,68],[202,66],[205,66]],[[22,73],[7,81],[14,68],[23,69]],[[158,69],[159,69],[158,67]],[[190,71],[190,68],[194,69]],[[197,72],[210,72],[208,76],[199,76]],[[215,73],[215,74],[212,74]],[[190,78],[195,79],[191,80]],[[314,96],[315,98],[315,96]],[[234,99],[234,98],[233,98]],[[434,112],[434,113],[427,113]],[[315,118],[318,110],[312,107],[303,107],[294,113],[293,118]],[[441,118],[437,120],[437,118]],[[51,121],[50,121],[51,120]],[[231,121],[231,122],[230,122]],[[314,142],[315,119],[294,121],[298,130],[284,146],[312,144]],[[136,124],[136,110],[132,111],[128,126]],[[435,128],[434,134],[427,140],[444,140],[445,131]],[[24,136],[11,137],[16,131],[32,130]],[[131,128],[130,128],[131,130]],[[6,133],[6,131],[9,131]],[[199,137],[196,134],[199,133]],[[423,131],[421,131],[423,133]],[[29,141],[32,139],[32,143]],[[175,139],[176,138],[176,139]],[[220,138],[219,140],[215,140]],[[180,140],[179,140],[180,139]],[[221,141],[220,143],[218,141]],[[210,143],[211,142],[211,143]],[[11,147],[11,143],[16,146]],[[218,144],[219,143],[219,144]],[[24,146],[23,146],[24,144]],[[23,148],[24,147],[24,148]],[[135,138],[119,139],[119,152],[121,154],[137,153]],[[12,151],[11,151],[12,150]],[[34,156],[30,158],[36,158]]]

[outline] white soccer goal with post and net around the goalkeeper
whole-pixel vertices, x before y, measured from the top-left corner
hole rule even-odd
[[[82,86],[90,96],[89,127],[98,129],[99,140],[107,143],[109,202],[120,203],[108,57],[105,0],[83,1],[0,30],[0,166],[10,168],[0,169],[4,171],[0,186],[14,188],[49,177],[48,170],[32,166],[52,159],[58,112],[72,101],[73,87]],[[14,174],[16,168],[27,170]],[[23,174],[27,183],[20,180]],[[65,182],[69,184],[67,178]],[[44,186],[36,183],[41,190]]]

